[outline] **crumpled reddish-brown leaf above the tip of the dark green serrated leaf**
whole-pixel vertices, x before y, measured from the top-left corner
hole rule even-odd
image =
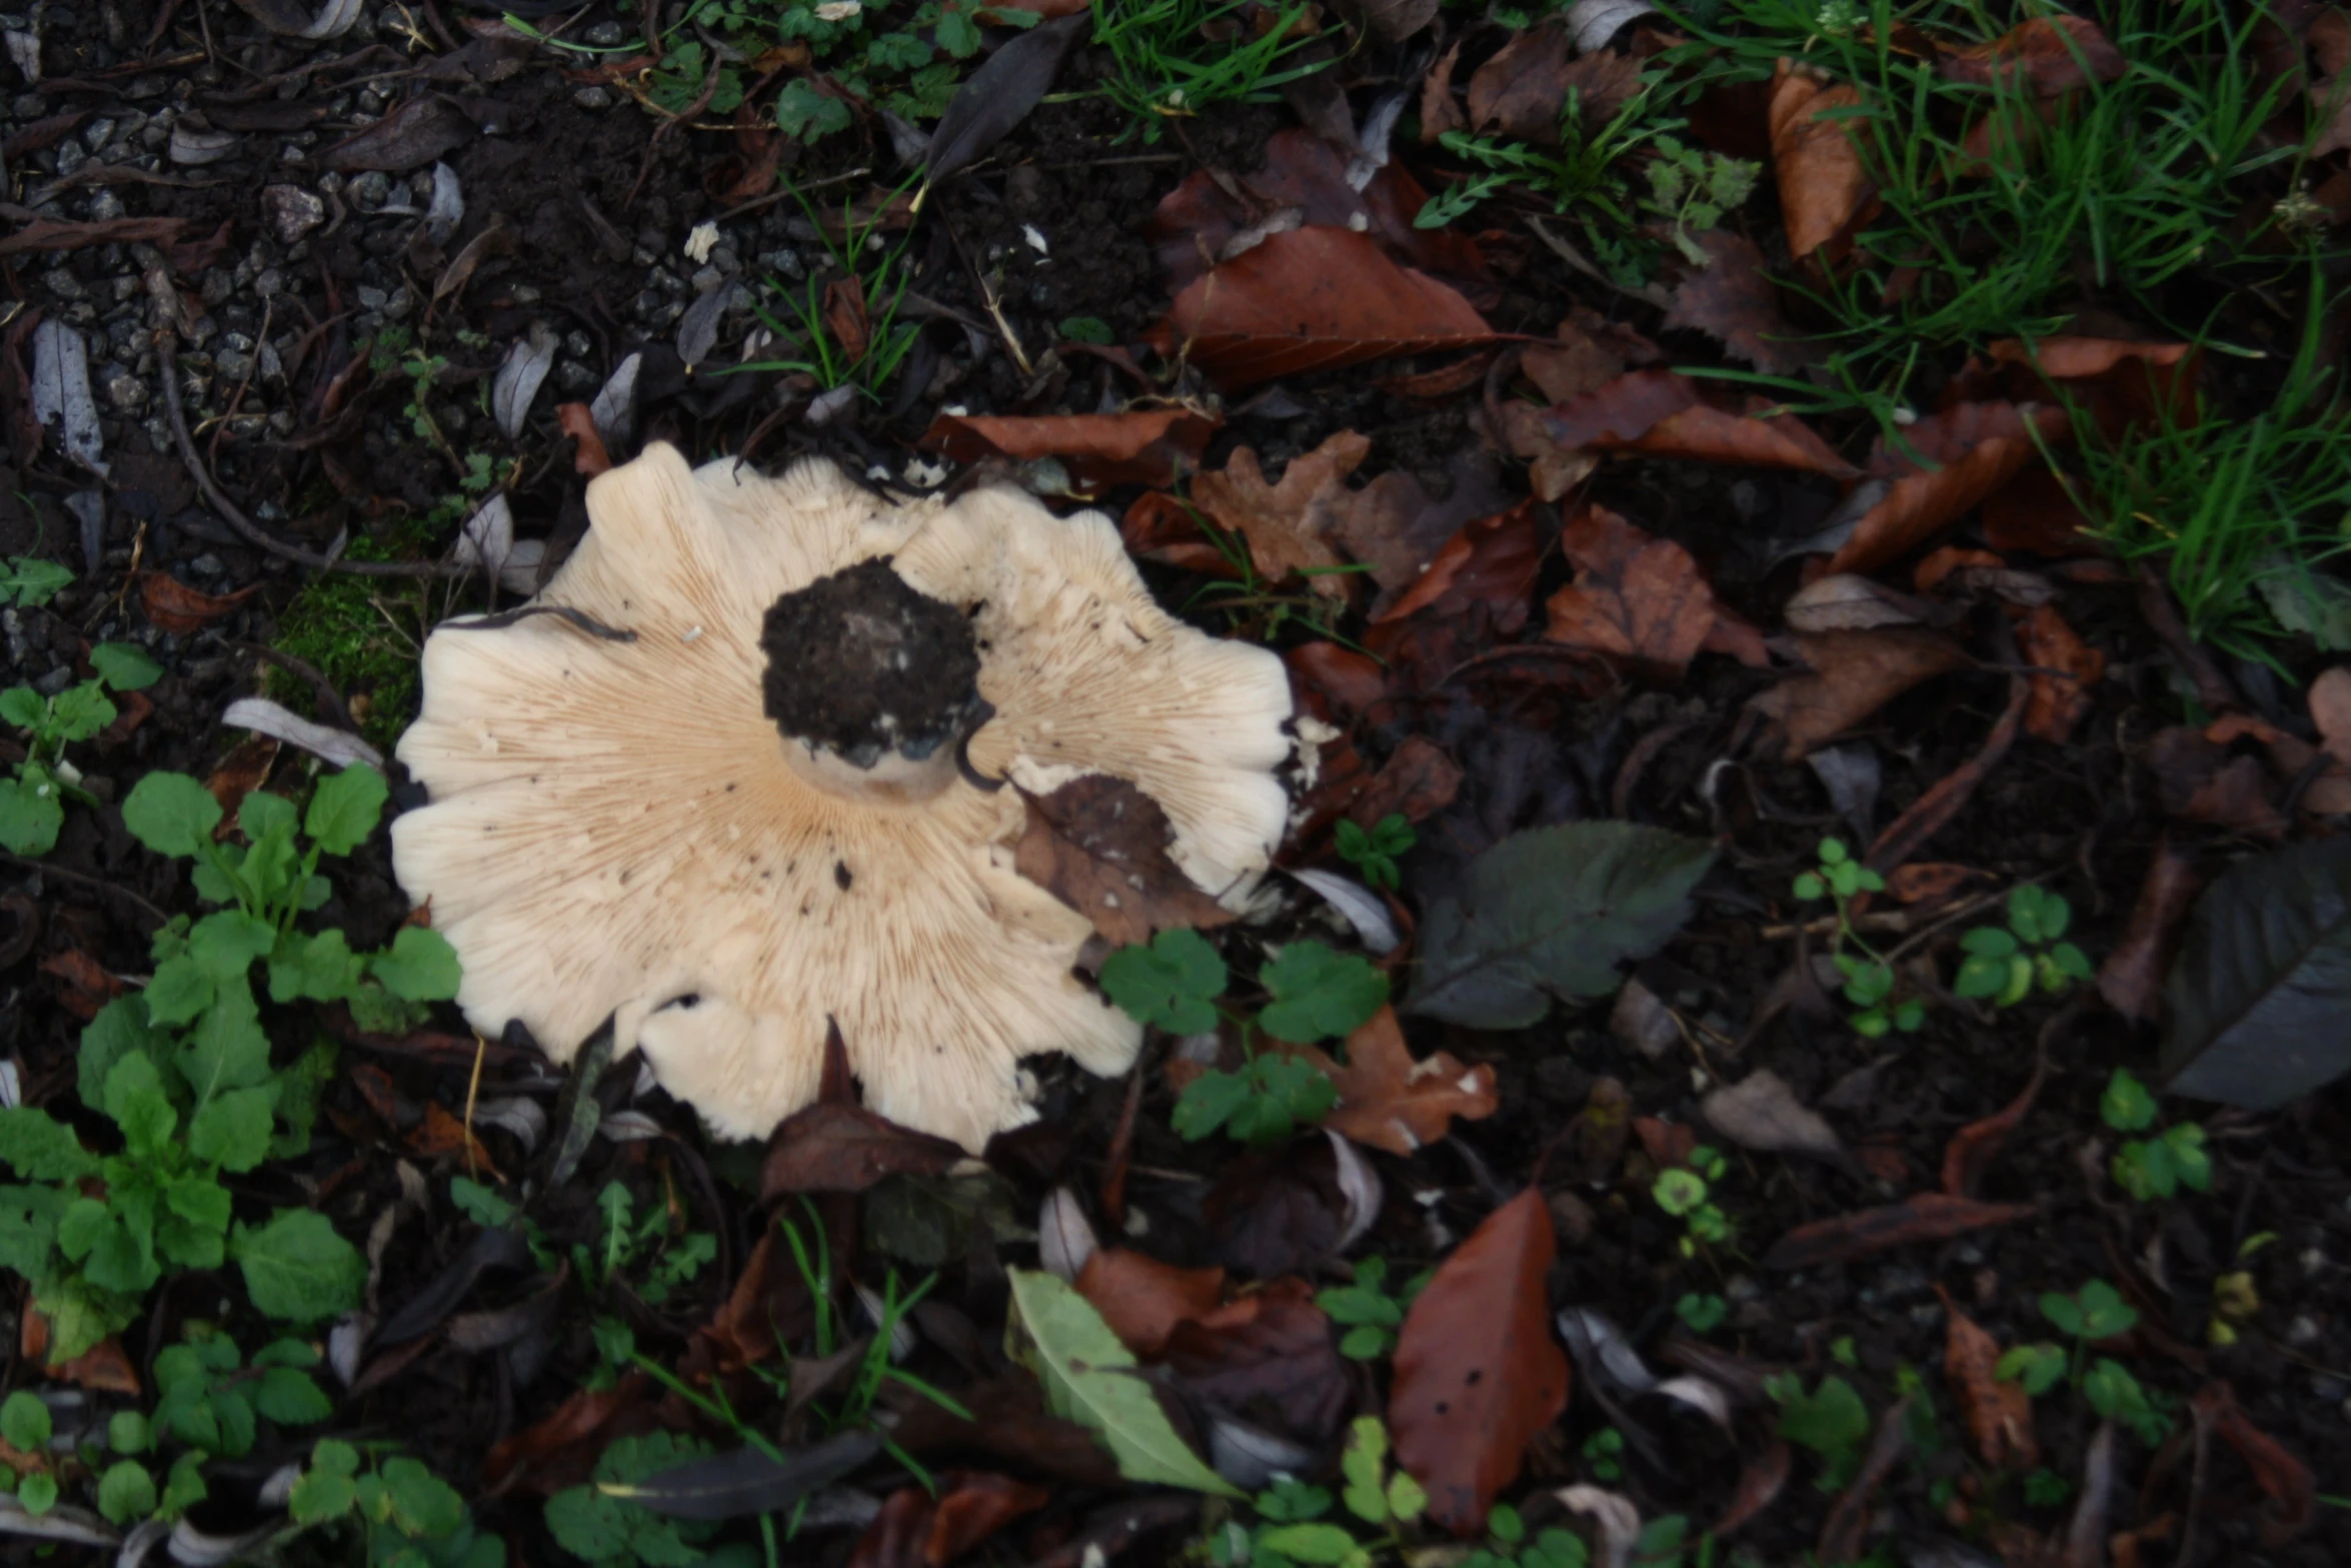
[[[1542,635],[1681,679],[1716,621],[1714,588],[1690,552],[1599,505],[1568,520],[1559,548],[1575,581],[1545,604]]]

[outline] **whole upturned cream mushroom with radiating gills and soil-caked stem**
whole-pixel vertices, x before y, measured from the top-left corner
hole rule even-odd
[[[1284,832],[1281,661],[1013,489],[900,505],[654,444],[588,515],[527,607],[567,614],[435,630],[400,741],[430,804],[393,863],[468,1020],[569,1060],[611,1018],[729,1138],[816,1098],[828,1020],[872,1110],[969,1150],[1034,1117],[1023,1056],[1128,1067],[1091,924],[1013,870],[1023,790],[1136,783],[1237,907]]]

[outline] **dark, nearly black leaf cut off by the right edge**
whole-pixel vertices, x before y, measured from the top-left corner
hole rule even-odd
[[[2276,1110],[2351,1070],[2351,839],[2238,860],[2165,983],[2165,1088]]]

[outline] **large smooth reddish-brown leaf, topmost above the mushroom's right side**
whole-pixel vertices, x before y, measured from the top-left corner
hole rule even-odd
[[[1230,388],[1493,336],[1455,289],[1349,228],[1267,235],[1187,284],[1152,329],[1161,355],[1185,355]]]

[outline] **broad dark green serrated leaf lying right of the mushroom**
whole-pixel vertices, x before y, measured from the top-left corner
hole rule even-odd
[[[1617,966],[1665,945],[1690,917],[1714,846],[1634,823],[1516,832],[1436,900],[1420,929],[1408,1013],[1476,1030],[1521,1030],[1552,999],[1617,987]]]

